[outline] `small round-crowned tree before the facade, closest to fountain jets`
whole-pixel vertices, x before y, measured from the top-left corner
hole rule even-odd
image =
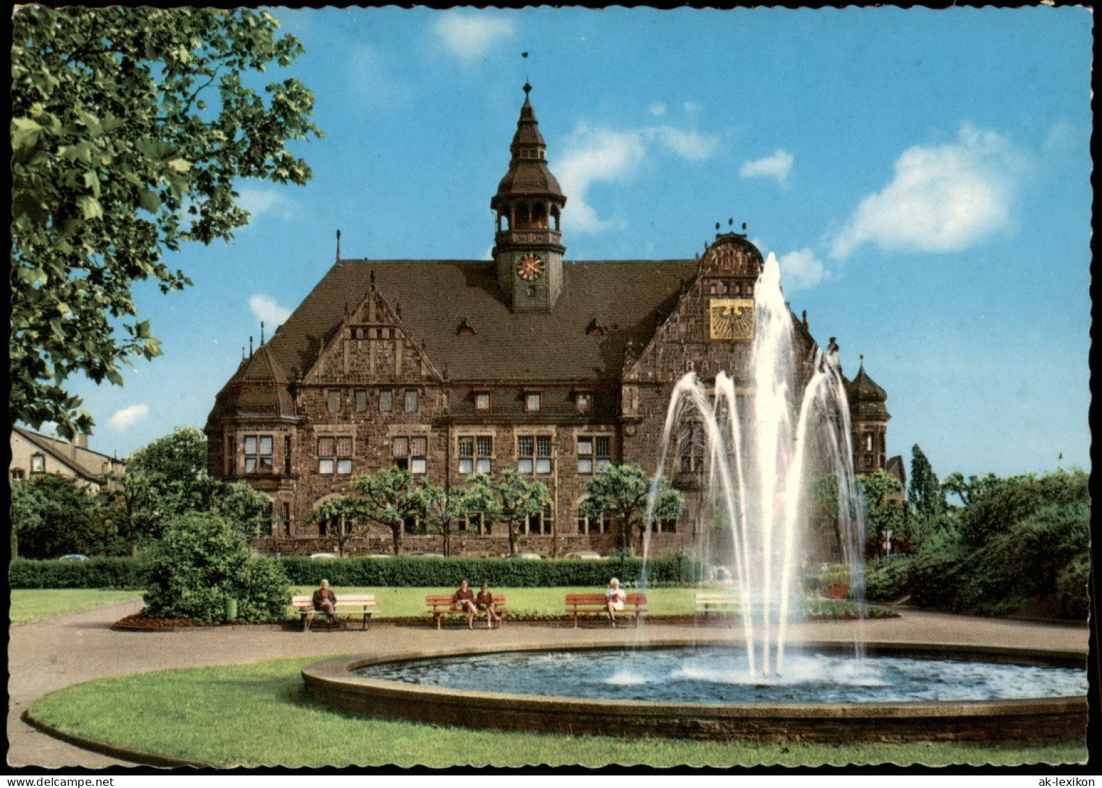
[[[588,497],[582,501],[579,515],[591,520],[602,515],[618,518],[624,523],[624,547],[630,547],[631,527],[639,531],[639,547],[646,536],[647,501],[650,498],[651,479],[638,465],[606,465],[585,485]],[[655,490],[655,520],[680,517],[684,512],[681,494],[670,487],[669,479],[659,478]]]

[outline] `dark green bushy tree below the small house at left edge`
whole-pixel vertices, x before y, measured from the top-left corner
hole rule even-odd
[[[96,496],[73,476],[40,474],[11,484],[12,557],[104,553],[114,533]]]

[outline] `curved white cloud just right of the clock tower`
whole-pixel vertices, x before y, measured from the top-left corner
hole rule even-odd
[[[701,161],[709,159],[715,147],[714,137],[669,126],[616,131],[579,123],[554,165],[563,192],[570,195],[571,231],[597,233],[615,224],[599,218],[586,201],[591,184],[629,180],[656,149]]]

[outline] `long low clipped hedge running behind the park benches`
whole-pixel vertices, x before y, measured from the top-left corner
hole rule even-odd
[[[604,587],[616,576],[637,585],[642,560],[536,561],[499,558],[349,558],[317,560],[284,557],[280,561],[294,585],[316,585],[323,577],[345,586],[450,586],[461,580],[496,587],[544,587],[596,585]],[[680,585],[701,576],[700,565],[689,558],[658,558],[648,562],[650,585]]]

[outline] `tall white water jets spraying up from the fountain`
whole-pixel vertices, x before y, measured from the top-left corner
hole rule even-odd
[[[807,363],[796,357],[792,315],[773,253],[754,292],[755,331],[742,385],[721,370],[709,391],[690,371],[673,388],[651,486],[644,555],[650,551],[658,483],[670,451],[703,440],[707,471],[699,507],[698,552],[705,564],[734,568],[746,667],[752,676],[769,678],[784,665],[812,474],[825,472],[835,481],[839,547],[858,607],[864,519],[854,487],[850,411],[838,354],[823,355],[817,347]],[[804,368],[810,376],[802,380]],[[732,546],[731,555],[716,557],[709,549],[713,520],[728,530],[725,543]],[[861,643],[858,637],[858,656]]]

